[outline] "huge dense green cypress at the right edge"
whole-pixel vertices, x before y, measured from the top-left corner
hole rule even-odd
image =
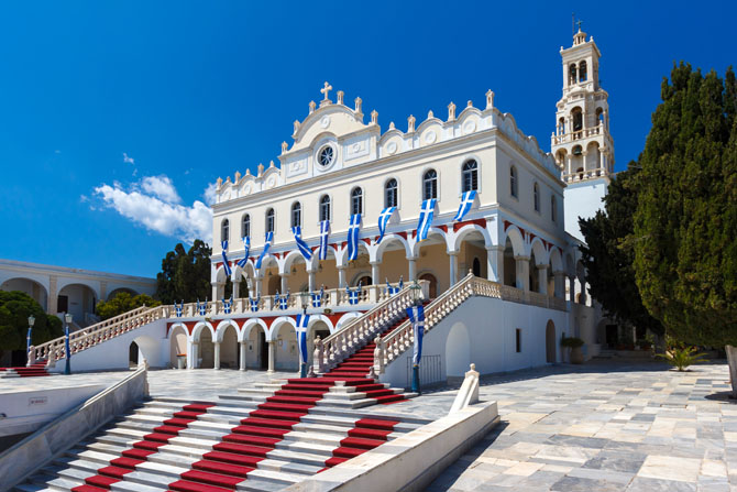
[[[661,97],[640,160],[637,285],[650,314],[676,339],[726,345],[729,354],[737,346],[735,74],[730,67],[723,80],[681,63],[670,81],[663,79]]]

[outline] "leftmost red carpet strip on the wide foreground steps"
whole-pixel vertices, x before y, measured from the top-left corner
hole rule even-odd
[[[168,440],[185,429],[188,424],[197,419],[197,416],[207,412],[211,403],[193,403],[185,405],[182,412],[175,413],[174,418],[164,420],[164,425],[154,429],[153,434],[143,436],[143,440],[133,444],[133,448],[125,449],[121,458],[110,461],[110,466],[97,470],[97,474],[85,479],[85,484],[75,486],[73,492],[105,492],[111,485],[123,479],[123,475],[135,471],[135,467],[144,462],[148,456],[168,442]],[[184,418],[186,414],[189,418]]]

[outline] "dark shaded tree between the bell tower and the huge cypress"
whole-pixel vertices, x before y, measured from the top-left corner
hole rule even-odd
[[[637,207],[639,166],[612,179],[604,197],[604,211],[591,219],[579,219],[586,245],[581,248],[581,262],[586,270],[591,295],[620,322],[639,329],[649,328],[662,335],[663,326],[650,316],[635,282],[632,210]]]

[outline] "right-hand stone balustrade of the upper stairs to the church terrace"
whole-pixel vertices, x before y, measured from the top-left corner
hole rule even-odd
[[[461,282],[446,291],[425,308],[425,331],[431,330],[433,326],[471,296],[492,297],[549,309],[568,310],[565,299],[550,297],[536,292],[520,291],[519,288],[480,278],[469,273]],[[383,372],[387,363],[411,348],[413,343],[414,332],[409,319],[405,320],[383,339],[378,339],[374,352],[374,370],[376,373]]]

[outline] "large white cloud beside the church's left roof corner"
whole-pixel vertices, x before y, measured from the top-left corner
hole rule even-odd
[[[195,239],[212,242],[212,210],[199,200],[191,207],[173,203],[173,197],[180,198],[166,176],[144,177],[129,190],[120,183],[102,184],[95,188],[95,195],[106,207],[148,230],[189,243]]]

